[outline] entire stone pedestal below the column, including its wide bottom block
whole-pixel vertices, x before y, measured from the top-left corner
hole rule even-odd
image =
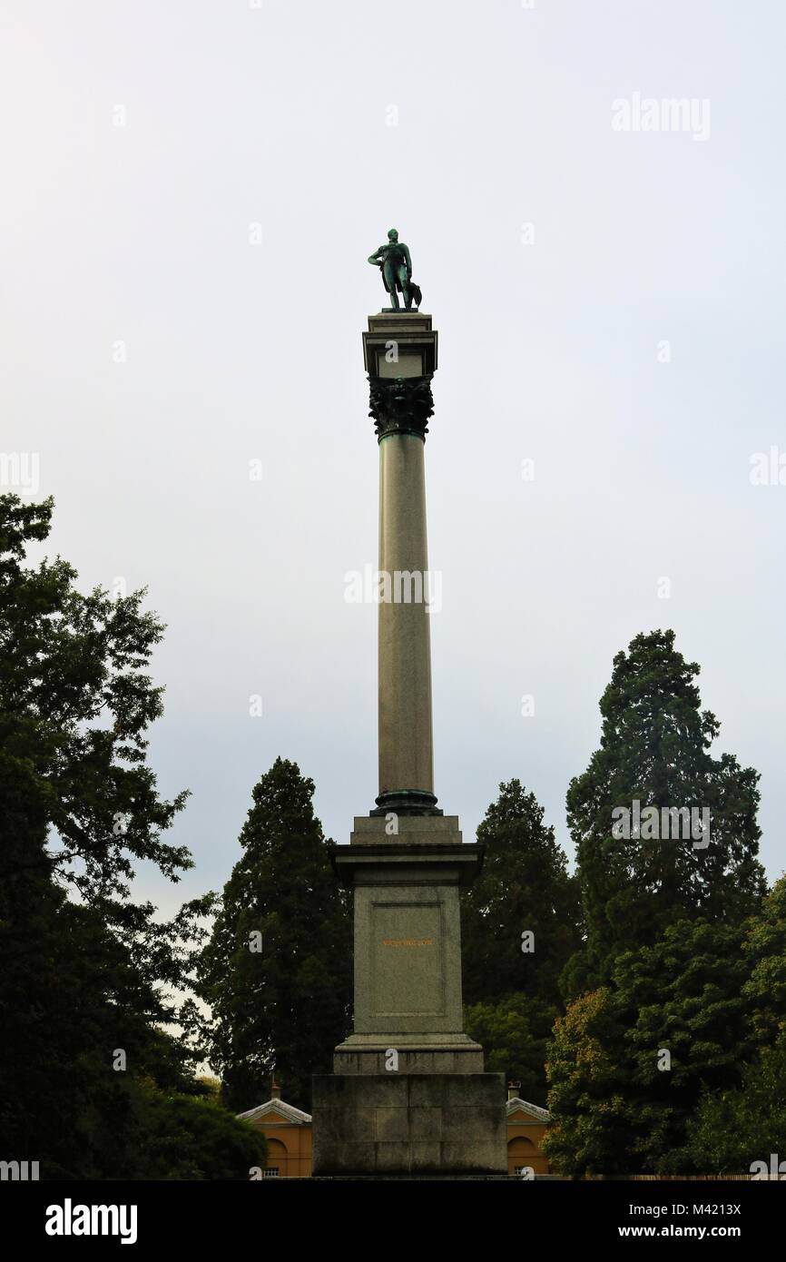
[[[313,1079],[314,1174],[505,1174],[502,1074],[463,1030],[459,888],[482,847],[454,817],[355,820],[353,1032]]]

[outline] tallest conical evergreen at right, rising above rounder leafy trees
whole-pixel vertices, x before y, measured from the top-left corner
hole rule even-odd
[[[742,923],[766,888],[756,857],[758,772],[730,753],[710,756],[719,723],[700,709],[699,666],[674,640],[674,631],[652,631],[617,654],[601,698],[601,748],[568,790],[587,926],[566,974],[573,994],[607,982],[619,954],[657,941],[679,919]],[[635,803],[656,808],[659,824],[664,809],[708,809],[709,843],[657,839],[635,823],[630,837],[613,835],[612,813],[635,819]]]

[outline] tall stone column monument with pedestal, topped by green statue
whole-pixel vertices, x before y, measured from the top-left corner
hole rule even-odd
[[[355,1017],[334,1073],[313,1079],[315,1175],[507,1171],[503,1076],[483,1073],[462,1016],[459,888],[482,847],[462,843],[434,795],[424,444],[437,342],[411,309],[371,316],[363,333],[380,447],[380,780],[333,852],[353,891]]]

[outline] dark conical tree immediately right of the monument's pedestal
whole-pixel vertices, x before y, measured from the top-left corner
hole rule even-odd
[[[500,785],[477,833],[483,867],[462,896],[464,1002],[525,994],[560,1002],[559,977],[578,949],[578,886],[554,828],[519,780]]]

